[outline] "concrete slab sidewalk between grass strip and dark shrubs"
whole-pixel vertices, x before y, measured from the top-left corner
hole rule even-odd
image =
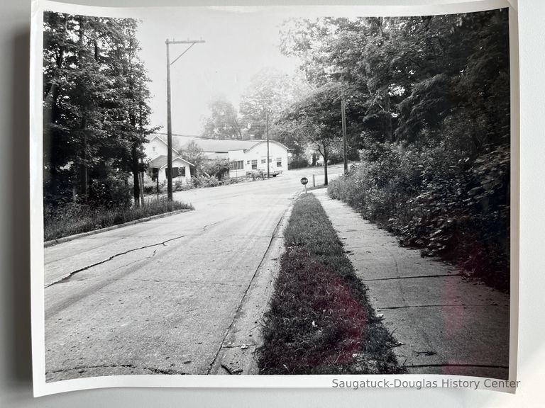
[[[343,239],[410,374],[508,378],[509,295],[468,282],[453,266],[402,248],[348,205],[313,191]]]

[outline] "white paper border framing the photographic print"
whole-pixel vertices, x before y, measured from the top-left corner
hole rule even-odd
[[[380,1],[377,0],[377,3]],[[189,6],[180,6],[188,8]],[[213,6],[191,6],[214,8]],[[518,305],[519,305],[519,54],[517,8],[509,0],[481,0],[451,4],[415,6],[229,6],[229,10],[268,8],[290,9],[293,16],[421,16],[468,13],[494,8],[510,8],[510,64],[511,64],[511,293],[510,293],[510,366],[509,380],[517,380]],[[167,12],[168,7],[161,7]],[[215,7],[217,8],[217,7]],[[224,8],[224,7],[221,7]],[[44,304],[44,251],[43,251],[43,137],[42,137],[42,64],[43,64],[43,11],[82,14],[89,16],[134,17],[143,16],[147,7],[116,8],[82,6],[33,0],[31,15],[31,75],[30,75],[30,188],[31,188],[31,307],[34,396],[59,392],[89,390],[107,387],[326,387],[332,380],[390,381],[452,380],[480,381],[480,389],[515,392],[514,387],[485,387],[485,378],[460,375],[112,375],[45,382],[45,304]]]

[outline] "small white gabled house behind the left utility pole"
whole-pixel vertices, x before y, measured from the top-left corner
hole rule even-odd
[[[145,175],[145,181],[156,181],[159,183],[167,182],[167,142],[160,135],[152,135],[148,143],[144,146],[144,153],[148,159],[148,171]],[[191,163],[180,157],[180,152],[172,149],[172,181],[174,183],[189,183],[191,181]]]

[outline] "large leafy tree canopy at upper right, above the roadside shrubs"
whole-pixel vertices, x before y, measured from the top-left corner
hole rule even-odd
[[[281,48],[302,60],[313,84],[343,83],[351,97],[353,145],[366,139],[425,143],[461,114],[473,123],[470,140],[460,135],[462,143],[477,152],[490,138],[480,140],[483,135],[498,132],[509,118],[507,27],[506,10],[299,19],[285,23]]]

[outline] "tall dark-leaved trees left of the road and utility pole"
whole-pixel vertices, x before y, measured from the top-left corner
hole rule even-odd
[[[52,205],[70,196],[108,203],[105,182],[138,174],[151,129],[136,28],[131,19],[44,14],[44,181]]]

